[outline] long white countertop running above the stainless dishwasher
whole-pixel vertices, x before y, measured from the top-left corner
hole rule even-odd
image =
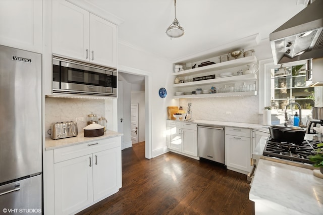
[[[260,125],[260,124],[236,123],[236,122],[212,121],[212,120],[194,120],[193,122],[183,121],[183,120],[175,120],[175,121],[187,122],[187,123],[196,123],[196,124],[209,124],[209,125],[249,128],[249,129],[254,129],[254,130],[269,133],[268,126],[267,125]]]

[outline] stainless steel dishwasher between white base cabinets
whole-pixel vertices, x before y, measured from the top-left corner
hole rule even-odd
[[[197,155],[225,164],[225,133],[223,126],[197,124]]]

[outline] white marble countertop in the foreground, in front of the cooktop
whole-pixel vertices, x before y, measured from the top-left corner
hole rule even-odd
[[[280,214],[323,214],[323,179],[313,170],[259,159],[249,199]]]

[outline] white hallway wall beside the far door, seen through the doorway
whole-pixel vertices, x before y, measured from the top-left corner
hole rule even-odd
[[[138,103],[139,104],[139,142],[145,141],[145,92],[144,91],[132,91],[131,92],[131,103]]]

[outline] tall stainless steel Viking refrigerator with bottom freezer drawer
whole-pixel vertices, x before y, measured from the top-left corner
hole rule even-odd
[[[41,55],[0,45],[0,213],[42,212]]]

